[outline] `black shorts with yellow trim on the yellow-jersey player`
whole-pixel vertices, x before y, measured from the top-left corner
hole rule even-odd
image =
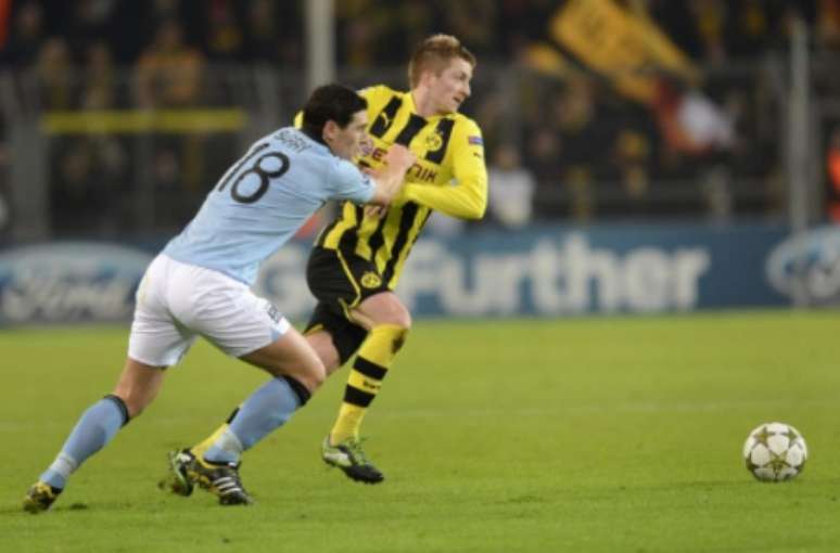
[[[362,257],[314,247],[306,263],[306,284],[318,300],[304,334],[326,330],[344,364],[368,332],[349,319],[349,310],[366,298],[390,292],[377,266]]]

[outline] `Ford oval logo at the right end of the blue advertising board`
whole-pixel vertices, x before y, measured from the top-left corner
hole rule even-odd
[[[840,227],[823,227],[792,236],[771,253],[767,280],[781,294],[793,295],[800,283],[818,304],[840,300]]]

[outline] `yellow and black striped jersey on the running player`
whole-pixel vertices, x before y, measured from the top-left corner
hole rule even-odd
[[[479,126],[464,115],[417,115],[409,92],[378,86],[359,94],[368,101],[368,132],[373,140],[372,151],[358,160],[359,165],[380,166],[394,143],[409,147],[417,163],[384,217],[366,217],[362,207],[345,202],[316,245],[373,261],[383,282],[394,290],[432,209],[460,219],[484,216],[484,144]]]

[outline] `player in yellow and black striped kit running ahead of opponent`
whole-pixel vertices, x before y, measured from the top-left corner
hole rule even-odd
[[[393,292],[411,246],[433,209],[481,219],[487,205],[481,130],[458,113],[470,97],[474,67],[475,57],[457,38],[435,35],[411,56],[410,91],[376,86],[359,92],[368,101],[372,147],[358,163],[380,167],[392,144],[408,146],[417,162],[387,208],[344,203],[318,236],[307,265],[307,282],[318,299],[307,340],[328,374],[357,352],[321,450],[327,463],[357,481],[384,478],[360,448],[359,426],[411,327],[408,309]],[[236,416],[234,411],[228,423]],[[192,453],[224,448],[226,433],[227,424]]]

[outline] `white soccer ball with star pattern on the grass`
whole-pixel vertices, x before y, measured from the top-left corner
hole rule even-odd
[[[758,426],[743,445],[747,470],[762,481],[794,478],[805,466],[807,446],[802,434],[789,424]]]

